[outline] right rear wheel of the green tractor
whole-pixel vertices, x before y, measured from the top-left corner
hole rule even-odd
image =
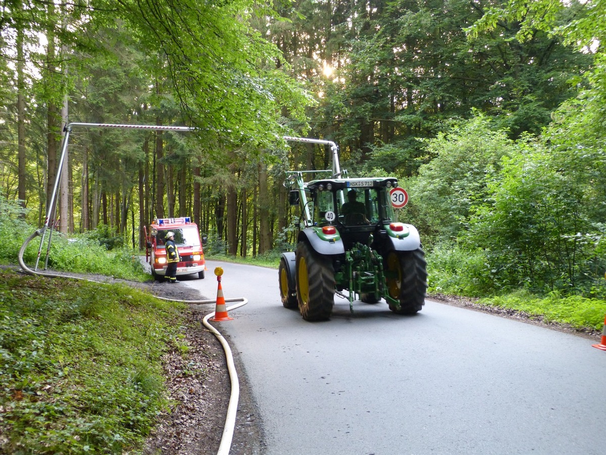
[[[400,301],[400,309],[389,305],[398,314],[415,314],[425,304],[427,262],[421,248],[414,251],[390,251],[385,259],[387,292]]]

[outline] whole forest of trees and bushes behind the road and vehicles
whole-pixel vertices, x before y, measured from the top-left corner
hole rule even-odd
[[[396,176],[430,289],[605,299],[604,0],[4,0],[0,199],[140,249],[192,216],[208,252],[291,248],[284,173]]]

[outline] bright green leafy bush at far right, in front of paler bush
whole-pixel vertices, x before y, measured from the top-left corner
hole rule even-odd
[[[541,147],[503,163],[489,185],[493,204],[475,207],[461,238],[482,248],[491,268],[511,285],[594,292],[595,263],[606,263],[594,254],[602,234],[588,216],[584,188],[553,167]]]

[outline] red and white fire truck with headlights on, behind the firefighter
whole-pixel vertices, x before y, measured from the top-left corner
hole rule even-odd
[[[151,267],[151,276],[161,281],[166,274],[166,250],[164,242],[166,234],[175,233],[175,245],[179,250],[181,262],[177,266],[177,276],[197,273],[198,278],[204,278],[206,269],[204,261],[205,244],[200,239],[198,225],[191,222],[188,216],[182,218],[158,218],[145,229],[145,260]]]

